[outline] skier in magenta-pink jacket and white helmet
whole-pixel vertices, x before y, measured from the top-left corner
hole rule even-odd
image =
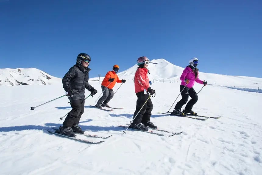
[[[182,99],[177,102],[177,104],[175,105],[175,109],[173,110],[173,112],[171,112],[171,114],[177,116],[185,116],[186,114],[196,115],[196,113],[192,111],[192,108],[193,105],[196,104],[198,96],[193,86],[195,84],[195,81],[199,84],[204,84],[205,86],[207,85],[207,81],[202,81],[198,78],[198,69],[196,68],[197,65],[198,59],[192,58],[189,60],[189,66],[186,66],[186,68],[183,70],[183,73],[180,77],[180,80],[182,81],[180,84]],[[190,96],[191,99],[186,104],[188,96]],[[185,110],[182,112],[181,108],[184,104],[186,104],[186,107]]]

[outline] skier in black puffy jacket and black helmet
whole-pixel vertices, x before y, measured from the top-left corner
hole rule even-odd
[[[91,96],[97,93],[90,84],[88,84],[88,68],[91,58],[86,53],[80,53],[76,58],[76,64],[69,69],[62,79],[63,88],[66,91],[72,110],[67,114],[63,126],[60,126],[58,132],[73,137],[74,132],[83,133],[78,126],[81,115],[84,113],[85,88],[91,92]]]

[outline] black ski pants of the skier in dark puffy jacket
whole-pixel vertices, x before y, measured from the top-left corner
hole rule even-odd
[[[65,127],[78,125],[79,120],[84,113],[85,99],[72,100],[71,97],[69,97],[69,100],[72,110],[67,114],[66,119],[63,122],[63,126]]]

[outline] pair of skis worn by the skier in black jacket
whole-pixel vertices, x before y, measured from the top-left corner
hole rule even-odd
[[[56,134],[58,136],[62,136],[62,137],[66,137],[66,138],[69,138],[69,139],[73,139],[73,140],[76,140],[76,141],[81,141],[81,142],[84,142],[84,143],[89,143],[89,144],[99,144],[99,143],[103,143],[104,140],[101,140],[101,141],[89,141],[89,140],[86,140],[86,139],[80,139],[77,137],[77,135],[84,135],[84,136],[87,136],[87,137],[93,137],[93,138],[102,138],[102,139],[107,139],[109,137],[111,137],[112,135],[109,135],[109,136],[98,136],[98,135],[93,135],[93,134],[87,134],[86,131],[82,134],[80,133],[74,133],[74,136],[73,137],[69,137],[67,135],[64,135],[64,134],[60,134],[59,132],[57,132],[57,128],[52,128],[54,131],[52,130],[47,130],[49,133],[52,133],[52,134]]]

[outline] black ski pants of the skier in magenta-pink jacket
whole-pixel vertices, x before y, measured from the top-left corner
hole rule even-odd
[[[184,87],[185,86],[180,85],[180,92],[181,92],[182,99],[179,102],[177,102],[177,104],[175,105],[175,109],[180,109],[181,110],[182,106],[184,104],[186,104],[186,102],[188,100],[188,96],[190,96],[191,99],[186,104],[185,110],[192,110],[193,105],[196,104],[196,102],[198,100],[198,96],[197,96],[196,91],[194,90],[194,88],[186,87],[183,90]]]

